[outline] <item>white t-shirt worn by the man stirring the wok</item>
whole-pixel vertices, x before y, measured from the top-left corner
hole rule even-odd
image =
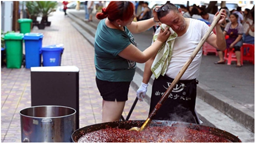
[[[208,30],[209,26],[200,20],[190,19],[190,25],[187,32],[181,37],[177,37],[174,42],[171,62],[168,66],[166,75],[175,78],[183,65],[189,60],[192,52]],[[160,28],[156,30],[158,33]],[[213,34],[213,32],[211,33]],[[191,80],[199,76],[199,69],[202,59],[202,48],[185,71],[180,80]]]

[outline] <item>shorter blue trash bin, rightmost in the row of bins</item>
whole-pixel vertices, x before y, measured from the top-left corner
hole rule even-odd
[[[60,66],[63,44],[42,47],[43,67]]]

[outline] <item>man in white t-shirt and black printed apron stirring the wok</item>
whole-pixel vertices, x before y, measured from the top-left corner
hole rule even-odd
[[[215,14],[215,18],[218,14],[219,12]],[[152,57],[145,64],[143,81],[141,87],[137,90],[137,97],[141,101],[142,98],[145,97],[149,79],[152,73],[154,73],[155,79],[152,86],[149,113],[151,113],[161,96],[169,88],[169,85],[177,76],[185,62],[187,62],[209,28],[209,26],[203,21],[193,18],[184,18],[182,16],[181,9],[171,3],[167,3],[161,7],[157,6],[153,10],[153,15],[155,21],[159,21],[160,23],[170,26],[177,34],[177,37],[173,39],[172,42],[174,44],[170,46],[170,57],[169,59],[166,59],[166,63],[168,65],[166,66],[165,71],[163,71],[165,68],[163,67],[160,74],[155,73],[157,66],[159,66],[155,65],[156,61],[159,61],[160,63],[160,60],[162,60],[159,59],[157,55]],[[225,17],[226,14],[222,12],[221,18],[215,26],[216,35],[211,33],[206,40],[208,44],[219,50],[226,49],[225,38],[220,27],[220,24],[225,20]],[[158,28],[155,34],[157,35],[159,31],[160,28]],[[195,110],[195,103],[196,87],[198,83],[196,78],[199,75],[201,58],[202,49],[197,53],[187,71],[184,72],[183,76],[177,83],[176,88],[156,112],[156,115],[153,117],[154,120],[171,120],[200,124]]]

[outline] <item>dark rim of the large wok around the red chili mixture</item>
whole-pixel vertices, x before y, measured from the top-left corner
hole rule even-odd
[[[121,128],[121,129],[129,130],[132,127],[141,127],[144,122],[145,121],[119,121],[119,122],[109,122],[109,123],[90,125],[90,126],[86,126],[86,127],[76,130],[72,134],[72,140],[74,142],[78,142],[78,139],[80,137],[82,137],[83,135],[85,135],[86,133],[94,132],[94,131],[106,129],[106,128]],[[226,139],[230,140],[231,142],[241,142],[241,140],[237,136],[232,135],[229,132],[226,132],[226,131],[223,131],[223,130],[220,130],[217,128],[213,128],[213,127],[207,127],[207,126],[192,124],[192,123],[153,120],[152,122],[150,122],[149,127],[150,126],[161,127],[161,126],[173,126],[173,125],[177,126],[179,124],[182,126],[185,125],[186,127],[193,129],[193,130],[203,131],[206,133],[211,133],[211,134],[217,135],[219,137],[226,138]]]

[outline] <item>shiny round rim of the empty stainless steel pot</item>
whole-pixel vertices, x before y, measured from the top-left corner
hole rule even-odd
[[[28,108],[35,108],[35,107],[63,107],[63,108],[72,109],[72,110],[74,110],[74,112],[71,113],[71,114],[68,114],[68,115],[65,115],[65,116],[59,116],[59,117],[32,117],[32,116],[27,116],[27,115],[21,113],[22,110],[25,110],[25,109],[28,109]],[[23,108],[23,109],[21,109],[19,111],[19,114],[20,114],[20,116],[27,117],[27,118],[33,118],[33,119],[57,119],[57,118],[65,118],[65,117],[73,116],[73,115],[76,114],[76,112],[77,112],[76,109],[74,109],[72,107],[68,107],[68,106],[61,106],[61,105],[38,105],[38,106],[30,106],[30,107]]]

